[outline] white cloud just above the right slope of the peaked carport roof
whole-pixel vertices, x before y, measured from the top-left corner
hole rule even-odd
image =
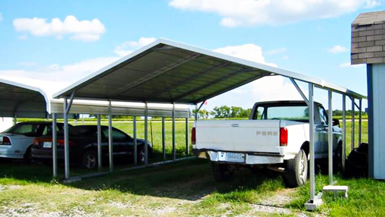
[[[213,50],[218,53],[238,57],[241,59],[262,63],[277,67],[274,63],[267,63],[262,55],[262,48],[255,44],[244,44],[239,46],[227,46]]]

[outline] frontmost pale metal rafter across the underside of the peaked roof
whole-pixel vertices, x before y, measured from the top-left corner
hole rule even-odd
[[[161,74],[164,74],[164,73],[168,72],[169,70],[174,69],[174,68],[178,67],[179,65],[182,65],[182,64],[184,64],[184,63],[186,63],[188,61],[191,61],[191,60],[193,60],[193,59],[195,59],[195,58],[197,58],[199,56],[201,56],[201,54],[194,54],[194,55],[191,55],[191,56],[189,56],[187,58],[183,58],[182,60],[180,60],[177,63],[173,63],[173,64],[170,64],[168,66],[165,66],[165,67],[163,67],[163,68],[161,68],[159,70],[156,70],[156,71],[154,71],[152,73],[149,73],[149,75],[147,75],[147,76],[143,76],[139,80],[135,80],[133,82],[130,82],[130,83],[126,84],[125,86],[117,89],[116,91],[114,91],[110,95],[111,96],[117,95],[117,94],[120,94],[120,93],[122,93],[124,91],[127,91],[127,90],[130,90],[132,88],[135,88],[135,87],[143,84],[144,82],[146,82],[146,81],[148,81],[148,80],[150,80],[150,79],[152,79],[154,77],[157,77],[157,76],[159,76]]]

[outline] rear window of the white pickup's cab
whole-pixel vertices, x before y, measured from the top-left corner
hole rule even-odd
[[[309,110],[306,105],[262,106],[256,109],[254,119],[308,121]]]

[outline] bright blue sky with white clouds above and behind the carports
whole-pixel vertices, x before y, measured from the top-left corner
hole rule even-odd
[[[365,66],[349,65],[350,24],[361,12],[383,9],[382,0],[1,1],[0,76],[55,92],[161,37],[222,48],[366,94]],[[316,93],[326,102],[326,91]],[[299,99],[293,94],[285,79],[264,80],[205,106]],[[340,96],[333,101],[340,107]]]

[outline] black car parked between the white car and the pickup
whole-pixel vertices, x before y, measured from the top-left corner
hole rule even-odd
[[[97,126],[81,125],[69,128],[69,155],[71,163],[78,163],[87,169],[94,169],[98,165],[97,154]],[[57,156],[64,159],[64,133],[58,132]],[[108,162],[108,127],[101,126],[102,162]],[[137,160],[144,162],[144,144],[142,139],[136,139]],[[147,142],[148,157],[152,153],[152,145]],[[124,132],[112,128],[112,153],[115,158],[133,159],[134,140]],[[37,138],[31,149],[32,158],[35,160],[52,160],[52,136]]]

